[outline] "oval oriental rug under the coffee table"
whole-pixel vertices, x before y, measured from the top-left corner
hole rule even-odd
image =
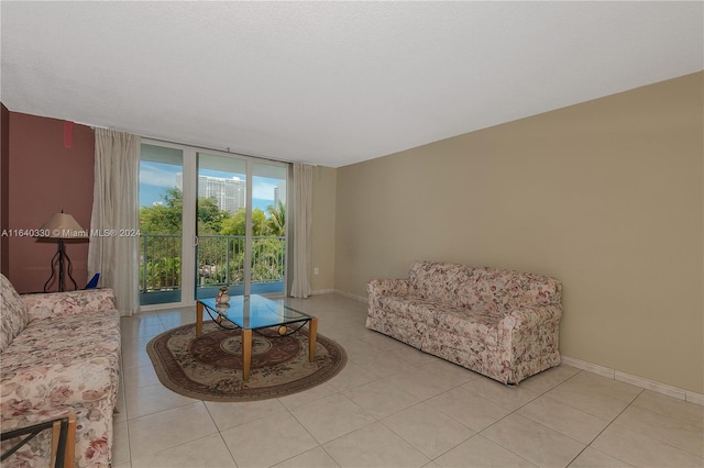
[[[346,364],[344,349],[318,334],[316,358],[308,360],[308,333],[279,336],[277,328],[252,334],[250,379],[242,380],[239,330],[183,325],[154,337],[146,352],[160,381],[176,393],[207,401],[254,401],[279,398],[316,387]]]

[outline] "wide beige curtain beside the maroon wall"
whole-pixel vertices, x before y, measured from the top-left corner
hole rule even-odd
[[[135,135],[96,130],[88,271],[99,272],[100,286],[113,289],[121,315],[140,309],[140,143]]]

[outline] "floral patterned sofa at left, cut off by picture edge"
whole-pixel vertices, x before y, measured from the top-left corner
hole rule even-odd
[[[2,432],[73,413],[76,467],[108,467],[120,374],[120,316],[110,289],[19,296],[0,275]],[[51,431],[4,463],[48,466]],[[2,444],[2,453],[12,441]]]

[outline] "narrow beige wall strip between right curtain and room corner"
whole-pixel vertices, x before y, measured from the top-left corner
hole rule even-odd
[[[315,167],[312,175],[312,252],[310,288],[314,292],[334,289],[334,223],[337,170]]]

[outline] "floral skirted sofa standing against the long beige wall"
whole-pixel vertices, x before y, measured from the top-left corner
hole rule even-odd
[[[562,285],[495,268],[416,261],[367,283],[366,327],[503,383],[560,364]]]

